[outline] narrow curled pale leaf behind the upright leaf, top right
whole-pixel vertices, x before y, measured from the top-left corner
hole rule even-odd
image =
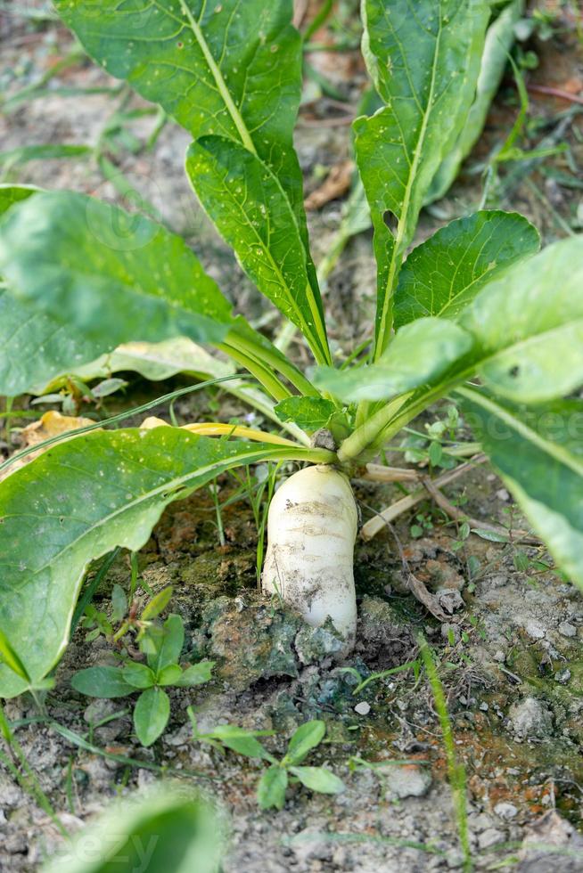
[[[431,188],[425,197],[426,203],[439,200],[448,192],[459,173],[462,161],[470,154],[473,146],[480,139],[490,104],[494,100],[504,77],[508,54],[514,42],[514,25],[520,20],[523,7],[524,0],[512,0],[489,26],[472,108],[468,112],[456,144],[441,162],[441,166],[431,183]]]

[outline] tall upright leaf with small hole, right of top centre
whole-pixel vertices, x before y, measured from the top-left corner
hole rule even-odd
[[[357,164],[374,223],[375,357],[390,338],[398,267],[441,160],[475,94],[489,4],[484,0],[363,0],[363,52],[385,107],[355,122]],[[389,213],[393,233],[385,224]]]

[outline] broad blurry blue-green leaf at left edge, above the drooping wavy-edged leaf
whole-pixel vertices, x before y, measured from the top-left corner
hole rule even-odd
[[[36,192],[0,187],[0,213]],[[227,331],[230,341],[243,342],[245,351],[250,347],[259,361],[267,359],[314,393],[266,337],[231,315],[230,303],[184,241],[148,218],[80,194],[37,192],[0,224],[0,262],[9,283],[0,290],[2,394],[37,393],[48,379],[71,371],[83,375],[87,362],[86,375],[97,375],[97,355],[110,352],[120,336],[131,341],[149,335],[163,343],[185,334],[216,343]],[[218,362],[189,339],[140,347],[145,355],[126,348],[99,364],[149,379],[182,369],[217,372]]]

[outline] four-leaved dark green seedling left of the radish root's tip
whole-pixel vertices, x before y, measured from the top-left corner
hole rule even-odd
[[[145,664],[127,660],[119,667],[87,667],[75,673],[71,684],[92,698],[125,698],[139,690],[134,707],[135,734],[143,746],[152,746],[170,717],[170,698],[165,689],[193,688],[208,682],[213,662],[201,661],[185,669],[178,664],[185,641],[180,616],[168,616],[158,633],[141,631]]]

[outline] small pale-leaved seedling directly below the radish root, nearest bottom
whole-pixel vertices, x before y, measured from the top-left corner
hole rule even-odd
[[[258,737],[273,734],[273,730],[244,730],[234,724],[222,724],[209,733],[200,733],[192,706],[188,714],[193,725],[193,738],[209,743],[215,748],[228,748],[237,755],[259,758],[270,766],[259,779],[257,800],[262,810],[283,809],[288,784],[300,782],[310,791],[324,795],[335,795],[344,791],[344,783],[326,767],[305,767],[300,764],[312,749],[320,745],[326,732],[325,722],[315,720],[305,722],[295,731],[287,751],[280,761],[271,755]]]

